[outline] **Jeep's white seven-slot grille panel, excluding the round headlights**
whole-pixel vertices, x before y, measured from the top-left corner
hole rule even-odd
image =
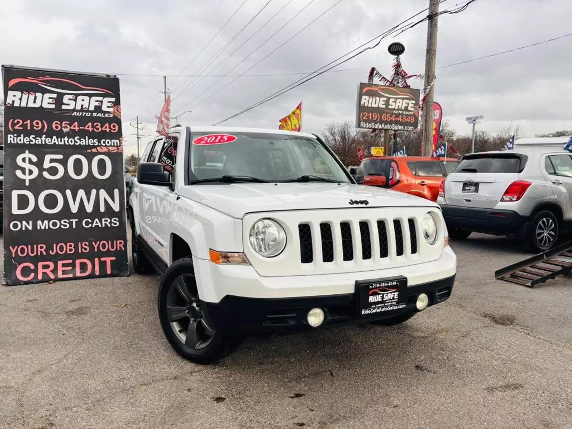
[[[423,216],[430,211],[440,218],[438,208],[352,207],[284,210],[247,213],[243,218],[244,252],[252,267],[263,277],[311,276],[356,273],[355,280],[371,279],[368,271],[392,269],[407,273],[410,265],[438,260],[443,249],[442,223],[437,224],[434,245],[423,239]],[[275,219],[287,235],[286,247],[276,257],[263,257],[248,245],[252,225],[263,217]],[[395,271],[395,268],[404,267]],[[373,275],[373,274],[371,274]],[[328,280],[329,281],[329,280]],[[288,287],[313,284],[311,277],[300,283],[288,280]]]

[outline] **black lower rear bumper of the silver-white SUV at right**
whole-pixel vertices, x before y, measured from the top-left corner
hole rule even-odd
[[[512,235],[529,223],[515,210],[481,209],[440,204],[447,228],[465,229],[494,235]]]

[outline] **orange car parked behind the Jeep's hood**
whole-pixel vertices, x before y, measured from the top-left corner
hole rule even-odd
[[[459,160],[455,158],[371,157],[362,161],[355,178],[364,185],[383,186],[436,201],[441,182],[457,165]]]

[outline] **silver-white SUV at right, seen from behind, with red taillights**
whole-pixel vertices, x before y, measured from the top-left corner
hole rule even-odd
[[[541,148],[465,155],[437,202],[451,239],[506,235],[545,252],[572,230],[572,155]]]

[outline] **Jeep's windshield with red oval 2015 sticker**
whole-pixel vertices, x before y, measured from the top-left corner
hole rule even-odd
[[[241,176],[292,181],[302,176],[349,183],[328,151],[313,138],[266,133],[196,133],[191,136],[189,179]]]

